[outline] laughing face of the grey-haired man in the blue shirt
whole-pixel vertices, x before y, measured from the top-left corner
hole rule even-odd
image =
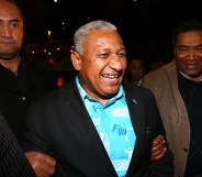
[[[102,103],[114,96],[127,65],[126,51],[116,32],[91,31],[80,56],[80,84]]]

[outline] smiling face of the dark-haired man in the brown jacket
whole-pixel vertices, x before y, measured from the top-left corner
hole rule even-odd
[[[202,79],[202,31],[180,33],[175,55],[180,71],[195,81]]]

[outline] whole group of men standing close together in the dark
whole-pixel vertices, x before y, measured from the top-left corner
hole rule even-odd
[[[22,10],[0,0],[0,176],[202,177],[202,22],[179,24],[173,60],[149,73],[114,24],[82,24],[59,88],[23,37]]]

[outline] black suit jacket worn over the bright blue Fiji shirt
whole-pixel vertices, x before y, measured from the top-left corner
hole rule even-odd
[[[126,177],[172,177],[172,153],[168,146],[160,161],[150,163],[153,140],[165,135],[154,95],[138,86],[123,87],[136,133]],[[24,150],[45,152],[56,158],[57,177],[117,177],[75,80],[33,102],[27,128]]]

